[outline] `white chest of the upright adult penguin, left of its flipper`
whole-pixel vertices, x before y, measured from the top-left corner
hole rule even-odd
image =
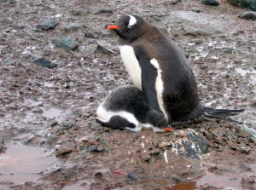
[[[129,45],[119,46],[119,49],[125,69],[129,73],[132,83],[134,83],[138,89],[142,89],[142,69],[139,65],[134,49]]]

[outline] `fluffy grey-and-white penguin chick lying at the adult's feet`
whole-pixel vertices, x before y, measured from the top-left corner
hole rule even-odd
[[[135,86],[114,89],[97,108],[96,115],[102,125],[113,129],[138,132],[144,126],[164,132],[167,127],[164,115],[150,107],[143,91]]]

